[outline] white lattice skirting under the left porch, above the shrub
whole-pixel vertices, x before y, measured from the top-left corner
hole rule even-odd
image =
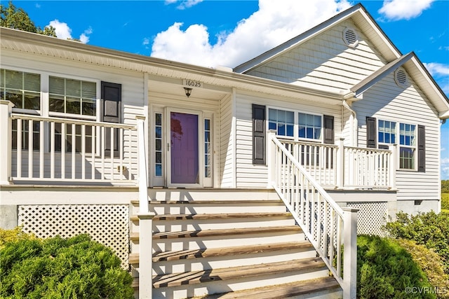
[[[109,246],[128,267],[129,206],[127,204],[41,204],[18,207],[18,225],[36,237],[67,238],[88,234]]]

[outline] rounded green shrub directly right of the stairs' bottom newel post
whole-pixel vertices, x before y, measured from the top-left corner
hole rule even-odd
[[[410,253],[386,237],[357,238],[357,298],[436,298],[410,293],[410,287],[431,288]]]

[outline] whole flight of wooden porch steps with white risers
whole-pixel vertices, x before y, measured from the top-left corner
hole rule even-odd
[[[280,200],[255,200],[254,193],[236,200],[229,190],[232,200],[213,190],[209,195],[219,199],[150,202],[156,214],[154,299],[342,298],[337,281]],[[138,202],[131,204],[129,263],[138,292]]]

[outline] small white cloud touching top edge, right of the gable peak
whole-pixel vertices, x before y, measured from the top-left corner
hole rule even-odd
[[[389,20],[410,20],[421,15],[434,0],[384,0],[379,13]]]

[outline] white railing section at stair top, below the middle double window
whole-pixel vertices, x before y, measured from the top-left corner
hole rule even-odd
[[[338,146],[290,140],[281,140],[281,144],[321,186],[337,184]]]

